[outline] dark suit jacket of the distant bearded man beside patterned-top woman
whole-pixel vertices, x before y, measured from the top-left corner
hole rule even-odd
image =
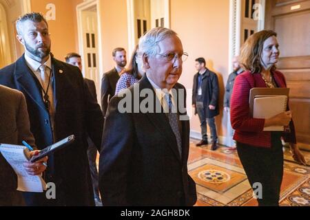
[[[101,80],[101,108],[103,115],[107,112],[107,105],[115,94],[116,83],[119,78],[120,77],[115,68],[103,74]]]

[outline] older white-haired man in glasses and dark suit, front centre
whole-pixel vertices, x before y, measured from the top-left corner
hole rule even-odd
[[[147,32],[139,50],[145,76],[114,96],[107,109],[99,162],[103,205],[193,206],[196,186],[187,173],[186,94],[177,83],[187,54],[167,28]],[[141,94],[145,92],[150,98],[147,109],[142,107],[148,100]],[[123,111],[125,100],[128,111]]]

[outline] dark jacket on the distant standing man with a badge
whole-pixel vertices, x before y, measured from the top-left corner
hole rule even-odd
[[[196,96],[198,95],[198,76],[199,73],[194,76],[193,94],[192,94],[192,104],[196,104]],[[205,107],[205,117],[213,118],[220,113],[218,107],[218,98],[220,94],[220,89],[218,87],[218,76],[209,69],[203,74],[203,83],[201,85],[203,90],[203,106]],[[209,109],[209,104],[214,105],[216,109]],[[195,109],[195,114],[196,114]]]

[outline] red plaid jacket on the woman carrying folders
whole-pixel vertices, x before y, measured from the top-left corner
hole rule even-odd
[[[285,76],[281,72],[273,72],[278,87],[287,87]],[[262,131],[265,119],[251,118],[249,113],[249,91],[254,87],[266,87],[265,81],[260,74],[251,74],[246,71],[237,76],[231,95],[230,111],[231,126],[236,130],[234,140],[252,146],[263,148],[271,147],[271,132]],[[289,110],[289,107],[287,107]],[[290,133],[282,133],[285,142],[296,144],[296,134],[293,120],[290,124]]]

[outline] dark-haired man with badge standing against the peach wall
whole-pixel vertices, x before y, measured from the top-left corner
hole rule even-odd
[[[195,114],[198,113],[202,140],[196,146],[208,144],[207,123],[211,133],[211,150],[215,151],[218,146],[215,116],[220,113],[218,107],[219,87],[218,76],[205,67],[205,58],[196,58],[195,67],[198,71],[194,76],[192,104]]]

